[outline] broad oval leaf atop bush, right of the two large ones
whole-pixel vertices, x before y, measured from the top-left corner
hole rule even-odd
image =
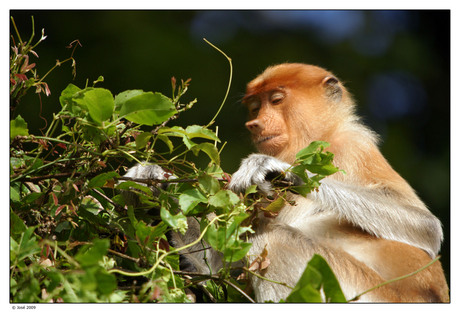
[[[161,93],[143,92],[120,99],[120,116],[141,125],[158,125],[177,113],[172,101]]]

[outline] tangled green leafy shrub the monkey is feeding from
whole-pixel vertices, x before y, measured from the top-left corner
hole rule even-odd
[[[36,72],[21,76],[25,55],[36,46],[31,40],[19,40],[21,53],[13,48],[12,103],[29,87],[44,84]],[[275,199],[255,196],[255,186],[244,195],[226,189],[229,176],[220,167],[221,142],[209,128],[212,122],[168,126],[197,102],[181,103],[190,80],[177,84],[173,78],[171,97],[142,90],[114,96],[96,87],[101,82],[99,77],[92,86],[69,84],[59,98],[61,110],[41,135],[30,134],[19,115],[11,120],[10,301],[190,302],[189,290],[203,293],[203,301],[252,301],[243,291],[246,282],[232,276],[238,270],[234,262],[250,248],[244,238],[257,211],[277,214],[283,194],[294,187],[280,188]],[[298,166],[319,175],[302,177],[308,190],[334,171],[324,146],[315,143],[299,155]],[[208,164],[200,168],[197,159]],[[176,178],[121,176],[145,161]],[[167,188],[158,188],[166,181]],[[294,191],[306,194],[307,189]],[[128,204],[126,190],[137,193],[139,205]],[[266,201],[271,204],[262,207]],[[186,247],[169,246],[167,233],[184,233],[187,218],[200,221],[196,243],[205,240],[222,252],[218,273],[180,270],[179,252]],[[251,272],[247,266],[239,270]],[[327,301],[343,300],[329,267],[316,257],[287,301],[319,300],[323,285]]]

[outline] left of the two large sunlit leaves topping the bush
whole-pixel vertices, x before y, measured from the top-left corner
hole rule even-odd
[[[107,89],[87,88],[83,90],[83,97],[76,99],[76,102],[87,107],[89,115],[99,125],[112,117],[114,100]]]

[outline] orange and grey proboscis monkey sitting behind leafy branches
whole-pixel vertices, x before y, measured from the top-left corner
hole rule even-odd
[[[295,286],[313,254],[327,260],[347,299],[414,272],[438,254],[440,221],[382,156],[376,134],[355,115],[351,96],[333,74],[305,64],[272,66],[248,84],[243,102],[249,110],[246,127],[260,154],[242,161],[229,188],[243,192],[257,185],[268,194],[269,178],[279,173],[298,183],[286,170],[298,151],[317,140],[330,143],[335,165],[346,173],[323,179],[319,190],[306,198],[289,194],[290,201],[276,217],[259,216],[248,262],[264,253],[270,264],[258,273],[269,280],[250,276],[257,301],[285,299],[291,290],[272,281]],[[159,167],[153,171],[138,166],[131,176],[158,179],[161,173]],[[173,244],[184,245],[198,235],[194,221],[185,236],[173,236]],[[201,257],[188,254],[188,268],[209,271]],[[214,272],[219,257],[208,250]],[[447,302],[448,293],[437,261],[358,301]]]

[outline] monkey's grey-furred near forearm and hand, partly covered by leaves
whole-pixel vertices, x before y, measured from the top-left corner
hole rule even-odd
[[[252,154],[242,161],[229,187],[237,192],[257,185],[262,192],[272,189],[267,176],[284,173],[290,164],[274,157]],[[300,178],[287,172],[284,179],[301,184]],[[342,183],[332,178],[321,181],[312,214],[332,212],[377,237],[396,240],[425,250],[431,257],[438,253],[442,241],[440,221],[426,208],[410,206],[401,196],[378,187]]]

